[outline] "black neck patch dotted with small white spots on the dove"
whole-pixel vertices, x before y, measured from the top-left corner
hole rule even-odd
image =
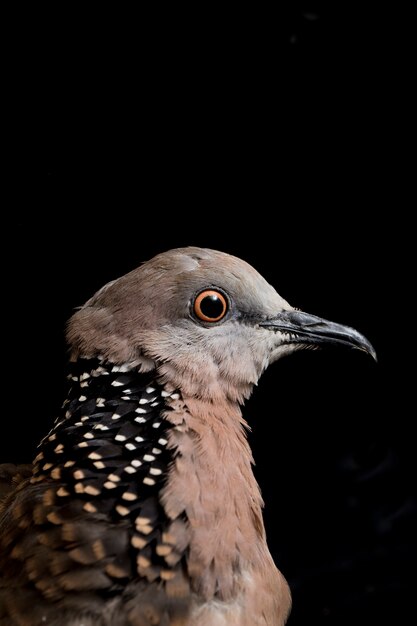
[[[32,482],[57,480],[63,503],[75,496],[85,511],[134,520],[136,501],[157,493],[172,460],[168,394],[152,373],[99,359],[69,368],[68,396],[39,445]]]

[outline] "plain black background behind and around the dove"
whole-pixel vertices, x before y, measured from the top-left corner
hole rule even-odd
[[[416,621],[410,16],[352,3],[87,14],[10,37],[4,461],[62,401],[64,327],[167,248],[254,265],[360,352],[293,355],[244,407],[290,626]],[[285,8],[286,7],[286,8]]]

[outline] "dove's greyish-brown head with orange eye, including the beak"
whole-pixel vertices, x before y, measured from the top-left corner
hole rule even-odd
[[[294,309],[248,263],[206,248],[169,250],[102,287],[69,320],[71,358],[156,370],[184,395],[242,402],[265,369],[306,347],[356,348],[348,326]]]

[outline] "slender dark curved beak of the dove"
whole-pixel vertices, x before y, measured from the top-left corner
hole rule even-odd
[[[286,335],[284,344],[346,346],[367,352],[377,360],[374,347],[354,328],[303,311],[282,311],[276,317],[261,322],[260,326]]]

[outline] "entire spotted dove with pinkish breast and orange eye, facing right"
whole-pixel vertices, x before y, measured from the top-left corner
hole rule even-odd
[[[0,466],[0,623],[283,626],[243,406],[282,357],[372,344],[191,245],[104,285],[65,333],[58,417],[32,463]]]

